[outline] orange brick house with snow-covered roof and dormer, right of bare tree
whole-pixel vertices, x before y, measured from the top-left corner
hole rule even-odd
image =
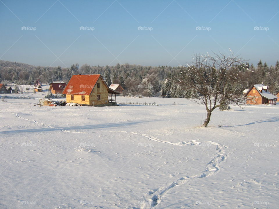
[[[276,105],[278,99],[277,96],[269,92],[269,87],[263,84],[255,84],[247,93],[245,97],[247,98],[246,103],[248,105],[261,105],[261,104],[272,104]]]

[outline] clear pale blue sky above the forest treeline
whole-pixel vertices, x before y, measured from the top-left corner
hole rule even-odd
[[[230,48],[250,63],[274,65],[278,22],[275,0],[0,0],[0,59],[62,67],[177,66],[193,53],[228,55]]]

